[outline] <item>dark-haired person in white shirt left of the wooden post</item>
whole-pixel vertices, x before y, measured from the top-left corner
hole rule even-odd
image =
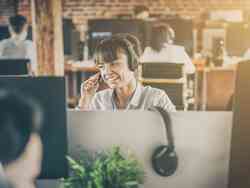
[[[0,59],[29,59],[29,72],[36,73],[36,50],[32,41],[27,40],[26,17],[15,15],[9,18],[10,38],[0,41]]]

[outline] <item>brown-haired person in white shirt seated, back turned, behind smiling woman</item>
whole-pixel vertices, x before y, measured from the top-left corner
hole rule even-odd
[[[152,33],[151,47],[145,48],[140,62],[184,63],[184,70],[187,74],[195,72],[195,66],[185,48],[173,44],[175,32],[169,25],[153,26]]]

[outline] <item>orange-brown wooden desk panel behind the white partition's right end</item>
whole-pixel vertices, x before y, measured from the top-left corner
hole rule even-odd
[[[235,88],[236,67],[205,68],[196,73],[198,110],[228,110]]]

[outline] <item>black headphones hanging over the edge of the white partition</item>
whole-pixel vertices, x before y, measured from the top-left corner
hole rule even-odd
[[[168,145],[157,146],[152,155],[152,166],[155,172],[160,176],[171,176],[175,173],[178,166],[178,156],[175,152],[174,137],[172,133],[171,119],[163,108],[153,107],[151,111],[161,114],[167,133]]]

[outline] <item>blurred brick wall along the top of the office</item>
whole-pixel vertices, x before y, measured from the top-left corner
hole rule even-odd
[[[19,13],[30,18],[29,2],[30,0],[20,0]],[[133,7],[139,4],[148,6],[151,14],[168,14],[171,11],[194,19],[198,19],[206,10],[250,11],[250,0],[63,0],[63,15],[72,18],[78,30],[84,33],[88,19],[132,14]],[[1,8],[6,12],[6,7],[0,7],[0,12]],[[0,23],[6,23],[6,18],[7,16],[0,15]]]

